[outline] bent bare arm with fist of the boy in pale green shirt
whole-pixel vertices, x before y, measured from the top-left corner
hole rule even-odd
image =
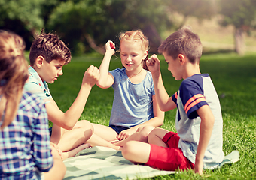
[[[77,98],[75,99],[72,106],[69,107],[69,110],[66,111],[66,113],[63,113],[62,110],[59,110],[59,107],[56,106],[56,103],[53,101],[53,99],[53,102],[51,101],[50,103],[46,104],[49,120],[59,127],[72,130],[72,127],[74,127],[75,123],[83,113],[84,106],[90,94],[90,90],[97,82],[97,80],[99,80],[99,70],[98,68],[91,65],[84,73],[83,83]]]

